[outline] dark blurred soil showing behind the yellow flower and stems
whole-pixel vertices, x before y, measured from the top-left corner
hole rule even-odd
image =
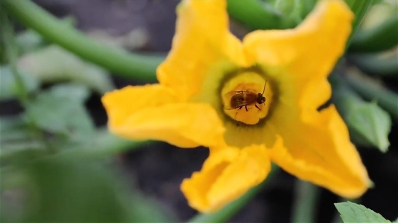
[[[123,36],[140,29],[147,37],[136,50],[166,53],[175,32],[175,8],[179,1],[134,0],[37,0],[35,1],[57,17],[72,15],[78,29],[84,32],[102,30],[112,36]],[[233,27],[242,36],[241,26]],[[114,76],[117,88],[137,84]],[[142,83],[139,83],[142,84]],[[97,126],[106,124],[106,114],[93,95],[87,107]],[[2,109],[4,106],[2,106]],[[7,113],[7,112],[6,112]],[[2,113],[4,115],[5,113]],[[390,134],[391,147],[387,154],[375,149],[359,148],[375,188],[369,189],[361,203],[394,220],[398,216],[398,150],[397,126]],[[393,137],[395,135],[395,137]],[[134,178],[131,187],[138,186],[145,194],[158,199],[165,208],[186,221],[196,212],[183,197],[179,186],[193,171],[200,170],[208,155],[206,148],[180,149],[166,143],[156,143],[141,150],[121,155],[120,166],[127,178]],[[280,171],[257,196],[241,209],[230,222],[289,222],[294,201],[295,178]],[[317,222],[331,222],[335,216],[333,193],[320,189]]]

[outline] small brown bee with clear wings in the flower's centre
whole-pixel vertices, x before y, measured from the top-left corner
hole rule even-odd
[[[259,110],[260,107],[257,104],[264,104],[265,105],[265,100],[266,98],[263,96],[265,87],[267,86],[267,81],[265,81],[264,89],[262,93],[257,93],[252,90],[240,90],[240,91],[231,91],[225,94],[226,97],[230,97],[231,95],[231,100],[230,104],[227,105],[227,108],[224,108],[226,110],[233,110],[233,109],[244,109],[248,111],[247,106],[248,105],[253,105],[258,108]],[[235,114],[235,118],[238,112]]]

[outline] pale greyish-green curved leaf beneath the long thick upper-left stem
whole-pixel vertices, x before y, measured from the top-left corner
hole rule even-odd
[[[63,48],[51,45],[20,58],[18,65],[44,82],[74,81],[103,94],[114,89],[108,73]]]

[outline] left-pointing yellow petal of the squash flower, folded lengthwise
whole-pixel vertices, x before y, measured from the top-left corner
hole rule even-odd
[[[204,103],[181,103],[161,85],[128,86],[105,94],[110,131],[132,140],[160,140],[178,147],[223,145],[216,111]]]

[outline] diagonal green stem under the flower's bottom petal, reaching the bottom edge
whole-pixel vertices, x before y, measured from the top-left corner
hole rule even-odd
[[[197,214],[191,218],[188,222],[226,222],[234,214],[236,214],[244,205],[247,204],[266,184],[267,182],[278,172],[279,167],[276,165],[271,166],[271,172],[269,172],[267,178],[259,185],[253,187],[242,197],[231,202],[221,210],[212,214]]]

